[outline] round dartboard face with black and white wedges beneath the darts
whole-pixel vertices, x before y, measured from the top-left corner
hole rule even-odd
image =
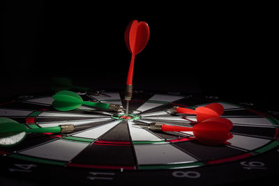
[[[85,101],[123,104],[123,93],[79,93]],[[89,127],[70,134],[27,134],[16,146],[0,148],[1,172],[34,180],[71,183],[230,183],[273,173],[278,165],[276,118],[241,104],[195,95],[135,91],[124,113],[82,105],[73,111],[52,108],[51,94],[24,95],[0,105],[0,116],[28,128],[61,124]],[[195,125],[195,115],[172,114],[174,106],[195,109],[218,102],[233,123],[227,144],[206,146],[193,132],[154,132],[134,125]],[[277,162],[276,162],[277,161]],[[232,176],[234,175],[234,176]],[[47,177],[47,178],[46,178]]]

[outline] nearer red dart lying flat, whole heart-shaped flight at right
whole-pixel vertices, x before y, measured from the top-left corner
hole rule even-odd
[[[232,138],[232,134],[229,132],[232,129],[232,121],[227,118],[209,118],[193,127],[166,125],[163,123],[136,123],[134,125],[142,125],[158,132],[193,132],[197,141],[211,146],[225,144],[228,139]]]

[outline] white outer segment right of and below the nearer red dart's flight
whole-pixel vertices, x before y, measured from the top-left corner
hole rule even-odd
[[[270,140],[234,134],[234,137],[232,139],[229,139],[228,142],[231,143],[232,146],[244,148],[246,150],[253,150],[255,148],[266,145],[270,142]]]

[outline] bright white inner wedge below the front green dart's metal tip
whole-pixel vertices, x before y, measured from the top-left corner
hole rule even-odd
[[[121,121],[113,121],[113,122],[107,123],[105,125],[94,127],[91,130],[86,130],[84,132],[75,134],[75,135],[73,135],[73,137],[85,137],[85,138],[90,138],[90,139],[97,139],[98,137],[105,134],[105,132],[109,131],[110,129],[112,129],[112,127],[116,126],[120,122]]]

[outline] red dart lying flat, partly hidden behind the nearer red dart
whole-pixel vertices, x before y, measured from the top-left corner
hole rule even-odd
[[[172,107],[172,109],[169,109],[169,111],[178,114],[196,114],[197,123],[199,123],[208,118],[216,118],[221,116],[224,113],[224,107],[219,103],[211,103],[204,107],[197,107],[195,110],[183,107]]]

